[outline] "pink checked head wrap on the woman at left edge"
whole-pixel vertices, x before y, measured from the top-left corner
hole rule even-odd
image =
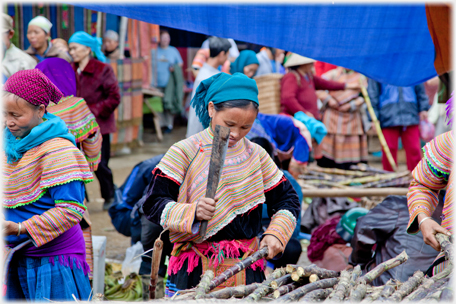
[[[3,86],[3,90],[19,96],[33,105],[48,106],[58,103],[62,92],[40,70],[24,70],[14,73]]]

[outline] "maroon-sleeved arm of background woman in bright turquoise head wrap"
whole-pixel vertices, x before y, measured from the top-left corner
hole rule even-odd
[[[91,110],[95,117],[108,118],[120,104],[119,84],[112,67],[108,64],[105,64],[98,77],[102,81],[106,97],[92,104]]]

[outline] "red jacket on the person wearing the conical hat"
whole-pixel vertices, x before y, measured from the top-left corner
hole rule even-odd
[[[299,111],[310,112],[316,119],[320,119],[315,91],[345,89],[343,82],[325,80],[316,75],[307,79],[299,74],[301,83],[298,84],[297,75],[297,72],[289,72],[281,81],[280,103],[285,114],[293,116]]]

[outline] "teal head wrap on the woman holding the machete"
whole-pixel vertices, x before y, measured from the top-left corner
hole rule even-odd
[[[210,101],[218,104],[239,99],[259,104],[256,81],[241,73],[234,75],[219,73],[200,83],[190,105],[195,108],[203,127],[207,128],[211,121],[207,110]]]

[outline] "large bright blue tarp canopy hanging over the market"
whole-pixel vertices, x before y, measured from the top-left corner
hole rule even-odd
[[[398,86],[437,75],[424,4],[71,4],[284,49]]]

